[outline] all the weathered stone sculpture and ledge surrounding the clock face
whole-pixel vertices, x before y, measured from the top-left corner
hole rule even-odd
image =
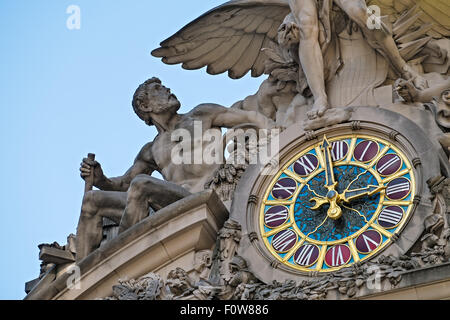
[[[202,104],[187,114],[177,113],[180,102],[159,79],[140,85],[133,109],[158,136],[123,176],[106,177],[93,154],[83,159],[77,237],[40,246],[41,274],[27,283],[27,299],[363,299],[379,298],[380,290],[450,297],[450,17],[431,1],[383,2],[391,16],[370,28],[363,0],[235,0],[163,41],[152,54],[165,63],[268,78],[231,108]],[[172,151],[186,141],[174,135],[195,133],[196,123],[200,138],[221,128],[281,134],[237,143],[228,151],[239,161],[175,163]],[[290,270],[270,258],[255,223],[265,177],[278,172],[280,159],[342,133],[401,147],[417,178],[414,213],[383,255],[327,274]],[[226,140],[218,134],[214,143],[200,139],[202,148]],[[279,154],[249,164],[250,150],[273,139]],[[166,180],[151,177],[154,171]],[[69,290],[75,255],[81,289]]]

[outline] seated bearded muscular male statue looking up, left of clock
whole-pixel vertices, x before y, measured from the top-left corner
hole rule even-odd
[[[133,108],[146,124],[156,126],[158,136],[141,149],[134,164],[120,177],[107,178],[97,161],[83,159],[81,176],[86,179],[93,172],[94,186],[100,190],[87,192],[83,200],[77,229],[77,261],[99,246],[103,217],[120,222],[119,232],[123,232],[147,217],[150,208],[157,211],[203,190],[219,164],[208,165],[203,161],[174,163],[173,150],[183,143],[174,141],[176,130],[194,133],[194,126],[200,123],[203,135],[210,129],[220,132],[220,128],[232,128],[242,123],[250,123],[260,129],[272,125],[272,121],[260,113],[215,104],[202,104],[187,114],[178,114],[180,102],[157,78],[139,86],[133,97]],[[219,143],[202,138],[203,150]],[[189,146],[195,144],[194,141],[184,141],[184,145],[186,142]],[[151,174],[154,171],[160,172],[165,181],[153,178]]]

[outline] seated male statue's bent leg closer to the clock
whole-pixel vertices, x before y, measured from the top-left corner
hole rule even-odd
[[[127,206],[120,221],[119,233],[145,219],[150,207],[157,211],[190,194],[177,184],[138,175],[128,189]]]

